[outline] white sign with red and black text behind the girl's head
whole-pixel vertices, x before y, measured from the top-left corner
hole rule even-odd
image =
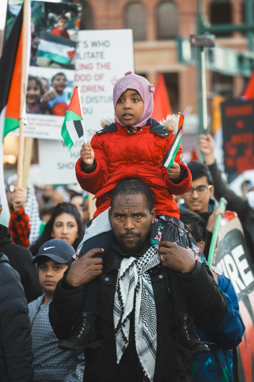
[[[131,29],[78,32],[74,85],[80,88],[89,141],[101,119],[114,116],[113,87],[127,71],[134,72]]]

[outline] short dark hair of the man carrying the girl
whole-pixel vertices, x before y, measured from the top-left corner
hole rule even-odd
[[[150,187],[138,179],[125,179],[118,183],[112,191],[111,195],[111,209],[113,202],[117,195],[139,195],[144,194],[146,198],[146,205],[149,212],[153,209],[153,194]]]

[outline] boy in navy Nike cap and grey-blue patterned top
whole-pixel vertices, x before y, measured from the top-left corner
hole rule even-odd
[[[52,239],[40,247],[33,259],[33,264],[38,266],[39,283],[43,289],[43,295],[28,305],[32,324],[35,382],[83,381],[83,353],[58,349],[59,340],[55,337],[49,321],[49,305],[56,284],[63,277],[74,254],[75,250],[71,244],[64,240]]]

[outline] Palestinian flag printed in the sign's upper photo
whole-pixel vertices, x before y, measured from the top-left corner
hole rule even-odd
[[[74,41],[49,32],[40,33],[38,57],[52,60],[61,65],[69,65],[75,56],[75,51],[76,43]]]

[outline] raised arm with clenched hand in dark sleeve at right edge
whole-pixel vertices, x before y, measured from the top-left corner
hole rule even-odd
[[[213,177],[215,198],[218,201],[222,197],[226,199],[227,210],[237,213],[240,221],[248,227],[254,241],[254,209],[248,200],[236,195],[222,179],[214,156],[214,140],[210,134],[200,135],[200,151]]]

